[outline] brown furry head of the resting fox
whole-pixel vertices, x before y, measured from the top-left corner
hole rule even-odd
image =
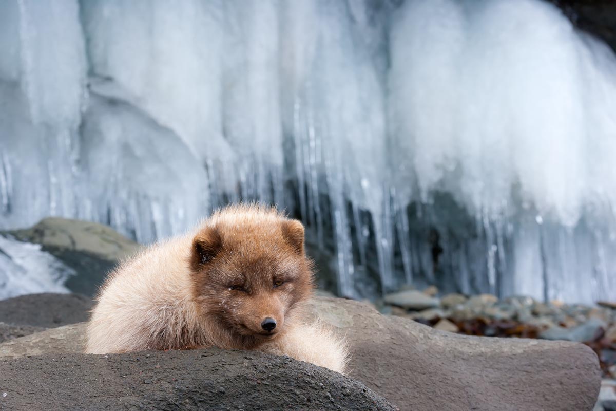
[[[190,266],[199,314],[243,348],[283,333],[314,287],[304,226],[262,206],[215,213],[193,239]]]

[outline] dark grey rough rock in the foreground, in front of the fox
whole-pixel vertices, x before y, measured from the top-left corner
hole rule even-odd
[[[259,352],[49,354],[1,365],[0,410],[395,410],[352,378]]]

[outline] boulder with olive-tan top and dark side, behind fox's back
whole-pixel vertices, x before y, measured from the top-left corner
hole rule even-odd
[[[6,232],[21,241],[37,243],[43,250],[75,270],[67,280],[69,290],[94,295],[97,287],[119,261],[139,250],[139,244],[95,222],[46,218],[30,229]]]

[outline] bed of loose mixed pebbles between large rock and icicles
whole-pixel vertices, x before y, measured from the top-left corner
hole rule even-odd
[[[438,293],[436,287],[423,291],[403,288],[379,300],[377,307],[381,312],[415,319],[446,332],[586,343],[598,353],[603,375],[616,376],[614,302],[584,306],[559,300],[544,303],[528,296],[499,300],[491,294],[468,297],[461,293],[439,299],[434,297]]]

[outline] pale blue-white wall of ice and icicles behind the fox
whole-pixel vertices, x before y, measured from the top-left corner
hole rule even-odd
[[[540,0],[0,0],[0,228],[277,203],[341,295],[616,293],[616,59]]]

